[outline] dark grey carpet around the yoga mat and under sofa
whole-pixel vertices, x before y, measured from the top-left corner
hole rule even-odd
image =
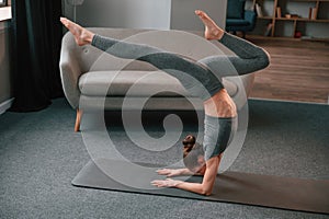
[[[250,101],[247,138],[230,171],[328,180],[328,105]],[[117,119],[115,113],[106,117],[110,122]],[[263,207],[75,187],[70,182],[90,155],[81,134],[73,132],[73,123],[75,112],[64,99],[41,112],[0,116],[1,218],[328,218]],[[146,129],[159,136],[161,129],[157,126],[157,122],[150,123]],[[184,131],[196,129],[194,123],[189,122]],[[132,161],[161,163],[161,159],[167,158],[166,154],[154,158],[154,154],[132,149],[120,125],[110,132],[114,140],[122,141],[120,150]],[[171,149],[168,153],[179,150]]]

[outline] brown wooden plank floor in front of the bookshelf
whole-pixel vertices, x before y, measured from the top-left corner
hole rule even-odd
[[[270,66],[256,74],[251,97],[328,104],[328,42],[247,39],[271,55]]]

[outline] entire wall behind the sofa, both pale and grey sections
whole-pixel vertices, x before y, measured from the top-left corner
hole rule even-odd
[[[70,0],[63,1],[65,15],[75,20]],[[76,21],[83,26],[201,31],[195,9],[225,25],[226,0],[84,0],[76,8]]]

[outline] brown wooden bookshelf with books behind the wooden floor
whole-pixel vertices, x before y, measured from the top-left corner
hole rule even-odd
[[[258,20],[269,21],[266,25],[264,22],[261,22],[259,27],[263,27],[264,35],[269,35],[270,37],[282,37],[283,38],[293,38],[300,41],[300,38],[295,38],[302,35],[311,35],[311,37],[305,41],[328,41],[328,38],[319,38],[316,33],[309,32],[306,25],[313,25],[314,27],[321,26],[320,28],[328,28],[324,25],[329,24],[329,18],[326,11],[328,9],[328,4],[324,5],[321,3],[329,3],[329,0],[249,0],[252,2],[252,5],[257,3],[263,8],[263,12],[265,16],[259,16]],[[292,3],[294,2],[294,3]],[[300,4],[298,3],[300,2]],[[290,4],[291,3],[291,4]],[[305,4],[306,3],[306,4]],[[306,14],[305,8],[309,9],[309,13]],[[258,8],[259,10],[259,8]],[[292,13],[292,15],[298,15],[295,18],[286,18],[287,13]],[[268,15],[272,14],[272,15]],[[306,18],[307,16],[307,18]],[[287,24],[285,24],[285,22]],[[319,23],[319,24],[316,24]],[[288,30],[288,31],[287,31]],[[261,30],[258,31],[261,34]],[[286,36],[288,34],[288,36]],[[324,34],[320,34],[321,37]],[[318,35],[318,36],[320,36]],[[269,37],[265,36],[265,37]],[[327,34],[325,34],[327,37]]]

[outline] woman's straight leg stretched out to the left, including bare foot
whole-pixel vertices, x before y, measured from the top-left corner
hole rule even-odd
[[[224,89],[222,82],[212,71],[193,60],[156,47],[103,37],[66,19],[61,19],[61,22],[75,35],[79,45],[91,44],[120,58],[149,62],[175,77],[192,95],[198,96],[203,101],[211,99]]]

